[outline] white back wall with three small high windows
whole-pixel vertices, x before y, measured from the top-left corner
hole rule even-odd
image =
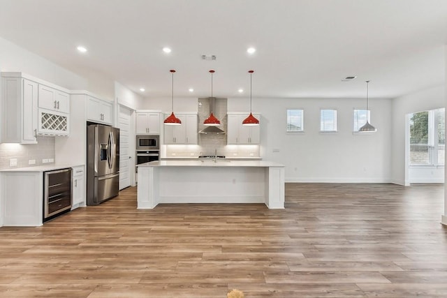
[[[369,103],[378,131],[353,134],[353,110],[365,108],[364,98],[254,98],[253,111],[262,111],[261,156],[286,165],[286,181],[388,182],[391,100]],[[305,110],[305,133],[286,133],[286,110],[293,108]],[[322,108],[337,110],[337,133],[319,132]],[[247,100],[228,98],[229,112],[248,109]]]

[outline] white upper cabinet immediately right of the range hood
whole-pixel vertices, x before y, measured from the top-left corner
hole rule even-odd
[[[261,119],[261,115],[253,114],[256,119]],[[227,144],[260,144],[261,126],[244,126],[242,121],[248,114],[228,113]]]

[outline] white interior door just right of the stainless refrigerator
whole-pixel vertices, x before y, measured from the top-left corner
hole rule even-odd
[[[131,186],[131,114],[127,107],[119,107],[119,189]]]

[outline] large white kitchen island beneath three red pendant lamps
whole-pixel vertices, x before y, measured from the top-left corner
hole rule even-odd
[[[152,161],[138,165],[138,209],[162,203],[263,203],[284,208],[284,165],[270,161]]]

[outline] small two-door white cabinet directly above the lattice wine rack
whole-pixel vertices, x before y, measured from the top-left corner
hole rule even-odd
[[[68,93],[39,84],[38,107],[59,113],[70,112],[70,96]]]

